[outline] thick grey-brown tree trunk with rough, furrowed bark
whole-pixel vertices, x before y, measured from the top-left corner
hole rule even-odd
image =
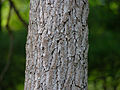
[[[30,0],[24,90],[87,90],[88,0]]]

